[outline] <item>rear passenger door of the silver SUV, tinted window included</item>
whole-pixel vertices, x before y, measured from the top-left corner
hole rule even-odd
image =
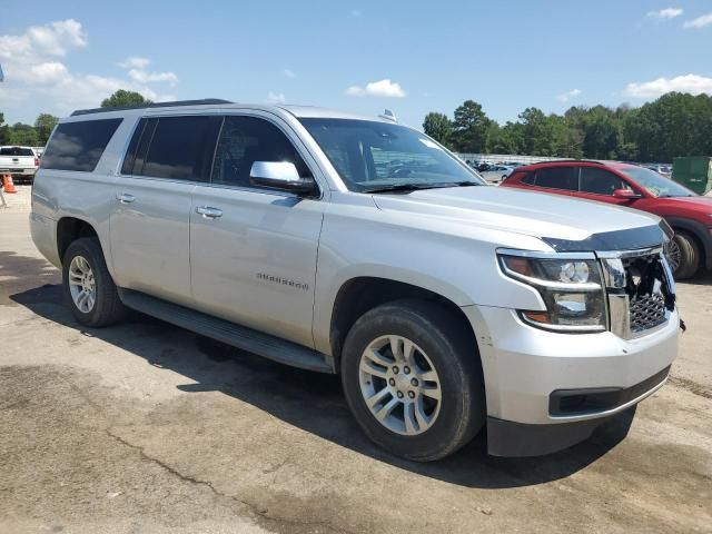
[[[190,208],[208,179],[220,118],[144,118],[117,180],[110,219],[117,285],[178,304],[190,291]]]

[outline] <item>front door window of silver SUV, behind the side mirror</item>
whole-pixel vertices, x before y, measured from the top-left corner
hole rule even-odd
[[[225,118],[212,162],[212,184],[257,187],[249,181],[255,161],[289,161],[301,178],[312,176],[289,139],[271,122],[256,117]]]

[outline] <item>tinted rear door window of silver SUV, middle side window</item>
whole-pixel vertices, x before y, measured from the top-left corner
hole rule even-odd
[[[207,181],[221,122],[217,116],[141,119],[121,172]]]

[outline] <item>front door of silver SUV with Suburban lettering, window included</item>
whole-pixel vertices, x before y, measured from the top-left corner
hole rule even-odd
[[[225,118],[210,184],[194,192],[190,264],[199,309],[313,346],[325,202],[249,181],[255,161],[290,161],[303,178],[312,177],[308,152],[297,146],[298,138],[276,118]]]

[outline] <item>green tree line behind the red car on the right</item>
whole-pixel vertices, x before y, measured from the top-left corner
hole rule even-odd
[[[712,96],[669,92],[640,108],[573,106],[564,115],[526,108],[504,125],[466,100],[453,118],[427,113],[423,129],[458,152],[672,161],[712,156]]]

